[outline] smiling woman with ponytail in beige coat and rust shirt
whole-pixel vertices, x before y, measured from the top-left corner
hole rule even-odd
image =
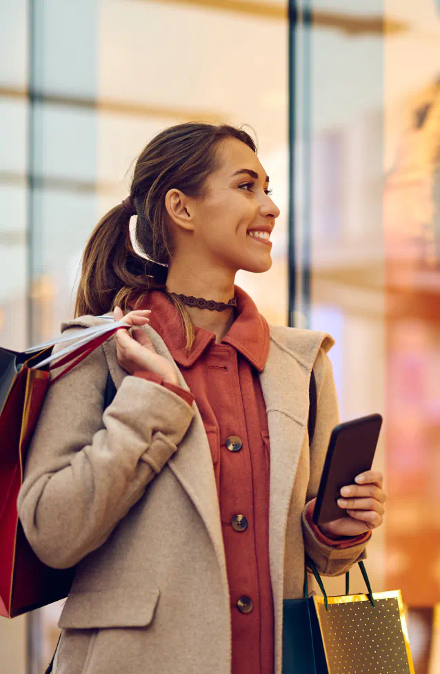
[[[50,389],[28,454],[26,535],[46,564],[77,564],[55,674],[281,674],[282,603],[302,596],[304,550],[341,574],[381,524],[382,476],[369,472],[341,501],[346,517],[312,525],[338,422],[333,340],[268,325],[234,285],[272,264],[268,180],[244,131],[168,128],[86,246],[86,315],[62,329],[78,338],[105,312],[133,327]],[[134,252],[132,215],[160,264]]]

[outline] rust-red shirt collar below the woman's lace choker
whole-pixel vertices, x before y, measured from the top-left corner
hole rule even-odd
[[[266,365],[269,353],[270,331],[266,318],[261,316],[252,298],[237,285],[237,318],[220,344],[230,344],[249,360],[259,372]],[[152,309],[150,326],[166,343],[170,354],[179,365],[191,367],[203,354],[215,334],[203,327],[195,327],[195,339],[190,354],[185,353],[185,334],[182,321],[174,304],[165,293],[152,290],[144,300],[142,309]]]

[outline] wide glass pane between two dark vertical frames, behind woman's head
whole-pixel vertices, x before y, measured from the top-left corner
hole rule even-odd
[[[194,120],[250,124],[257,133],[282,215],[272,268],[242,272],[237,283],[268,320],[286,325],[287,3],[248,4],[34,3],[32,64],[41,95],[30,124],[32,341],[49,339],[72,316],[84,244],[126,197],[143,146],[163,128]],[[33,614],[35,666],[51,657],[62,604]]]

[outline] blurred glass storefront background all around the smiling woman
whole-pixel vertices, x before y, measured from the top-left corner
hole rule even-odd
[[[237,284],[269,322],[334,336],[343,421],[384,416],[367,566],[402,590],[417,674],[440,672],[439,4],[0,0],[1,345],[72,316],[83,246],[152,136],[250,124],[281,215],[272,268]],[[1,619],[1,674],[44,671],[61,603]]]

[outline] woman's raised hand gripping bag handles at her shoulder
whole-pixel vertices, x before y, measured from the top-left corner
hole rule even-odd
[[[128,374],[134,374],[139,370],[154,372],[154,374],[163,377],[163,381],[179,386],[177,374],[170,361],[154,351],[150,338],[140,327],[146,325],[150,320],[148,314],[151,314],[151,310],[143,309],[130,311],[130,314],[124,316],[121,307],[114,309],[114,320],[123,319],[133,326],[131,336],[128,330],[118,330],[114,333],[119,365]]]

